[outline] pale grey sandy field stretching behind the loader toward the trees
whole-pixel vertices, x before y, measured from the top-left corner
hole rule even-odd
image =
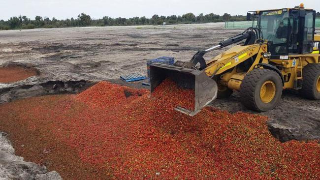
[[[173,56],[190,60],[196,50],[241,30],[221,24],[157,27],[95,27],[0,32],[0,63],[35,63],[46,74],[85,73],[91,79],[146,74],[146,60]],[[71,74],[72,75],[72,74]]]

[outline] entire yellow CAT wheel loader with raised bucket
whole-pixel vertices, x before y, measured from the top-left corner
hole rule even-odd
[[[189,62],[150,66],[151,92],[164,79],[194,90],[194,116],[214,99],[240,91],[247,108],[263,112],[273,109],[285,89],[299,90],[308,99],[320,99],[320,35],[315,34],[316,12],[303,4],[294,8],[251,11],[253,27],[219,45],[198,51]],[[237,44],[212,60],[210,51]]]

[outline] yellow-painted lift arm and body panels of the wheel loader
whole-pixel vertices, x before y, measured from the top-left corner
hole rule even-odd
[[[319,49],[316,49],[316,44],[320,42],[320,35],[315,35],[314,41],[315,47],[311,54],[288,55],[288,58],[283,56],[283,59],[270,60],[283,67],[281,73],[285,81],[284,89],[294,89],[294,81],[303,78],[302,68],[305,65],[320,62]],[[241,82],[247,72],[253,70],[258,63],[270,62],[267,57],[263,57],[264,53],[268,53],[267,42],[248,46],[236,45],[210,60],[205,72],[208,76],[221,75],[216,79],[219,88],[225,86],[231,90],[240,90]],[[253,57],[255,59],[249,70],[243,71],[237,67],[238,64]]]

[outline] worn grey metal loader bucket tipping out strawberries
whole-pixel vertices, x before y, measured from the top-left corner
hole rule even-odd
[[[204,71],[183,68],[174,65],[154,63],[150,65],[150,91],[153,92],[160,83],[170,79],[179,87],[194,90],[194,111],[182,107],[175,110],[194,116],[206,105],[217,98],[217,83]]]

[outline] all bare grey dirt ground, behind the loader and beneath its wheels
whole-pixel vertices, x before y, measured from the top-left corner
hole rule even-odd
[[[210,23],[0,31],[0,66],[13,63],[37,68],[40,75],[23,83],[28,87],[41,85],[32,93],[23,91],[21,94],[17,88],[22,86],[21,83],[0,83],[0,92],[5,93],[0,102],[43,95],[50,91],[46,87],[55,89],[57,84],[61,90],[52,93],[74,93],[77,92],[74,89],[83,87],[79,85],[82,81],[110,80],[141,87],[140,82],[123,83],[119,76],[131,72],[145,75],[146,60],[160,56],[190,60],[198,49],[211,47],[243,31],[226,30],[223,26],[223,23]],[[221,51],[206,55],[206,59]],[[70,82],[78,84],[71,85]],[[38,90],[42,90],[41,93],[37,93]],[[235,92],[231,98],[216,100],[211,105],[231,112],[248,112],[238,102],[238,97]],[[270,131],[281,141],[319,139],[319,105],[320,101],[306,100],[295,91],[285,91],[280,104],[262,115],[271,119],[268,124]]]

